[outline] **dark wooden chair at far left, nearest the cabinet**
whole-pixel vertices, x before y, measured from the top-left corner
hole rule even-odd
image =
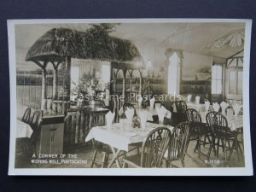
[[[16,138],[16,147],[22,148],[29,154],[29,148],[32,148],[32,153],[37,156],[37,142],[41,132],[43,111],[35,111],[32,118],[32,136]]]

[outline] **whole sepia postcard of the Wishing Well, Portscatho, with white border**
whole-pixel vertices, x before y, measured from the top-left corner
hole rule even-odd
[[[9,175],[253,175],[252,20],[8,20]]]

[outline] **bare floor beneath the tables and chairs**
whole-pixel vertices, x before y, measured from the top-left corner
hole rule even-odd
[[[219,152],[219,157],[214,157],[214,154],[212,152],[211,154],[211,160],[217,160],[217,164],[207,164],[205,160],[207,160],[207,152],[208,152],[208,146],[201,147],[201,158],[199,158],[198,153],[194,152],[195,148],[195,142],[192,141],[189,143],[189,148],[187,151],[187,154],[185,156],[185,167],[243,167],[244,164],[244,158],[243,156],[238,160],[236,151],[231,156],[231,159],[229,161],[224,161],[224,154],[222,152],[222,149]],[[78,164],[68,164],[68,163],[61,163],[61,164],[55,164],[61,162],[60,158],[55,159],[55,161],[52,161],[52,163],[45,163],[43,160],[46,160],[42,158],[42,162],[40,164],[38,163],[32,163],[32,157],[29,157],[27,154],[25,154],[20,148],[17,148],[16,154],[15,154],[15,168],[89,168],[91,163],[91,158],[93,154],[93,149],[91,146],[81,146],[78,148],[75,148],[73,150],[73,153],[76,155],[76,158],[71,158],[73,160],[80,160],[81,163]],[[111,156],[110,156],[111,158]],[[70,158],[63,158],[62,160],[71,160]],[[97,155],[96,159],[99,163],[102,161],[102,154]],[[181,163],[179,161],[173,162],[173,165],[181,167]],[[113,167],[116,167],[115,164],[113,164]]]

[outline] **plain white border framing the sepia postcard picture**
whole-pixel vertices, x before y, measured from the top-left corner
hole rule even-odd
[[[49,169],[17,169],[15,168],[15,128],[16,128],[16,57],[15,57],[15,24],[53,24],[53,23],[215,23],[215,22],[244,22],[245,49],[243,66],[243,126],[245,167],[241,168],[135,168],[135,169],[90,169],[90,168],[49,168]],[[251,44],[252,20],[230,19],[93,19],[93,20],[8,20],[9,38],[9,81],[10,81],[10,144],[9,144],[9,175],[63,175],[63,176],[252,176],[252,149],[250,137],[250,113],[249,113],[249,68],[250,68],[250,44]]]

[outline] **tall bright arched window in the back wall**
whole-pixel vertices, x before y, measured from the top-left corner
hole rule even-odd
[[[179,94],[180,65],[177,53],[173,53],[169,58],[168,67],[168,94]]]

